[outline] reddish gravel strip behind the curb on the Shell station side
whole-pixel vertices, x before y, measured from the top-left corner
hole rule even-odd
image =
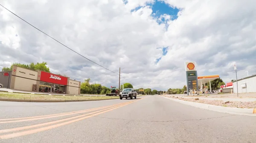
[[[175,97],[170,97],[170,98],[175,98]],[[224,102],[222,100],[206,100],[206,99],[199,99],[199,98],[197,98],[198,100],[195,100],[195,98],[182,98],[182,97],[176,97],[175,99],[203,103],[203,104],[216,105],[216,106],[222,106],[222,107],[248,108],[248,109],[256,108],[256,101],[253,101],[253,102],[242,102],[242,101]]]

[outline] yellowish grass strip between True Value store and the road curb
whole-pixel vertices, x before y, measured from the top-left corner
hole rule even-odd
[[[61,96],[61,95],[26,95],[0,93],[0,98],[8,99],[30,99],[30,100],[97,100],[117,99],[119,96]]]

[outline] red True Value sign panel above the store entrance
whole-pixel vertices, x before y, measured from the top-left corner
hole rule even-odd
[[[67,85],[67,77],[41,71],[40,81],[53,84]]]

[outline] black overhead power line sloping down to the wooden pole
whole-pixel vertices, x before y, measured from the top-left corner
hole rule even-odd
[[[5,8],[7,11],[11,12],[12,14],[14,14],[16,17],[18,17],[18,18],[20,18],[21,20],[23,20],[21,17],[17,16],[17,14],[13,13],[12,11],[10,11],[9,9],[7,9],[7,8],[4,7],[3,5],[0,4],[0,6],[2,6],[2,7]],[[35,26],[33,26],[32,24],[30,24],[29,22],[27,22],[26,20],[23,20],[23,21],[26,22],[27,24],[29,24],[30,26],[32,26],[33,28],[37,29],[38,31],[42,32],[43,34],[49,36],[49,35],[46,34],[45,32],[41,31],[40,29],[36,28]],[[66,48],[72,50],[73,52],[79,54],[79,55],[82,56],[83,58],[89,60],[90,62],[93,62],[92,60],[86,58],[85,56],[81,55],[80,53],[76,52],[75,50],[73,50],[73,49],[67,47],[66,45],[62,44],[62,43],[59,42],[58,40],[54,39],[52,36],[49,36],[49,37],[52,38],[53,40],[55,40],[56,42],[60,43],[61,45],[65,46]],[[96,63],[96,62],[93,62],[93,63],[99,65],[100,67],[103,67],[102,65],[100,65],[100,64],[98,64],[98,63]],[[109,70],[109,69],[106,68],[106,67],[103,67],[103,68],[105,68],[105,69],[108,70],[108,71],[111,71],[112,73],[115,73],[115,72],[113,72],[112,70]],[[119,75],[118,73],[115,73],[115,74]]]

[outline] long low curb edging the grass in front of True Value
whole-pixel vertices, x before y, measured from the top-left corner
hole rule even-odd
[[[114,98],[119,99],[119,98]],[[9,99],[0,98],[0,101],[12,101],[12,102],[79,102],[79,101],[102,101],[102,100],[114,100],[114,99],[89,99],[89,100],[30,100],[30,99]]]

